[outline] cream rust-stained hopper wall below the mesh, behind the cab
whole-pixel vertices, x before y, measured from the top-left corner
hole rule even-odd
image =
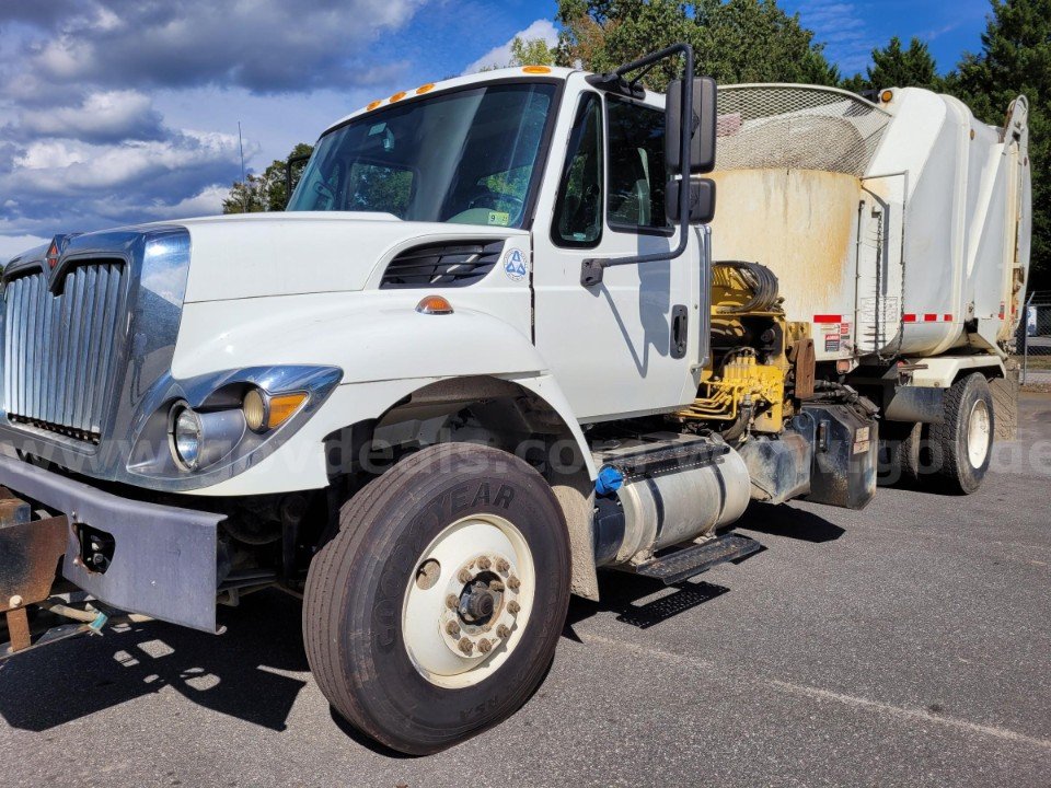
[[[861,181],[817,170],[713,173],[717,209],[713,259],[762,263],[773,270],[789,320],[854,311]]]

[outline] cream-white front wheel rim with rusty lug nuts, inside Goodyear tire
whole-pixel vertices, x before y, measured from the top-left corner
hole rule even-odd
[[[529,545],[508,520],[472,514],[449,525],[424,551],[406,584],[402,638],[413,665],[441,687],[485,681],[521,641],[535,583]],[[460,604],[450,606],[450,598]],[[492,615],[465,617],[463,606],[484,598]]]

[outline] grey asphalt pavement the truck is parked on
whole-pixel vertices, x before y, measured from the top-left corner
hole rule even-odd
[[[575,601],[511,720],[403,758],[333,719],[296,600],[0,668],[13,786],[1051,786],[1051,396],[974,496],[754,506],[765,549]]]

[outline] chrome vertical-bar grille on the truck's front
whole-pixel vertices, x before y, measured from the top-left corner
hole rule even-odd
[[[116,372],[125,313],[125,265],[79,265],[58,294],[47,276],[13,280],[4,293],[4,403],[11,421],[97,443]]]

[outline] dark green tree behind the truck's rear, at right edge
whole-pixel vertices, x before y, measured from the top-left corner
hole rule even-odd
[[[967,53],[947,88],[985,123],[1001,126],[1010,102],[1029,101],[1032,167],[1031,289],[1051,288],[1051,0],[992,0],[982,50]]]

